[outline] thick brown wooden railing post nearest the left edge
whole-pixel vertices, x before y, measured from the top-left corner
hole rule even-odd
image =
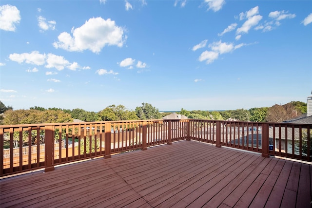
[[[55,126],[45,127],[45,172],[54,170],[54,131]]]

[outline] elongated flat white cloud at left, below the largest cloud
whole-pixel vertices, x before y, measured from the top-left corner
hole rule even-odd
[[[9,59],[18,63],[28,63],[35,65],[43,65],[45,63],[45,54],[39,54],[38,51],[33,51],[30,54],[10,54]]]

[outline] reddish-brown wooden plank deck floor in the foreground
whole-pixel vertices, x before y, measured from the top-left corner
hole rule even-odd
[[[312,165],[195,141],[0,180],[0,207],[311,207]]]

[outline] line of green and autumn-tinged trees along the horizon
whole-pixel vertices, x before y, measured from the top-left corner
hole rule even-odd
[[[226,111],[187,111],[181,109],[179,114],[188,118],[208,120],[238,120],[254,122],[282,122],[297,115],[307,112],[307,104],[301,101],[292,101],[285,105],[275,104],[272,107],[226,110]],[[159,112],[149,103],[142,103],[134,111],[123,105],[110,105],[99,112],[89,112],[83,109],[60,109],[31,107],[28,110],[13,110],[12,106],[5,106],[0,101],[0,124],[32,124],[32,123],[63,123],[81,121],[116,121],[116,120],[148,120],[160,119],[172,112]]]

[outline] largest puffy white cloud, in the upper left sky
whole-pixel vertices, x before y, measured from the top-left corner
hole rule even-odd
[[[93,53],[99,53],[106,45],[117,45],[122,47],[126,36],[124,29],[117,26],[111,19],[91,18],[81,27],[72,28],[71,36],[67,32],[59,34],[59,41],[54,42],[55,48],[61,48],[67,51],[90,50]]]

